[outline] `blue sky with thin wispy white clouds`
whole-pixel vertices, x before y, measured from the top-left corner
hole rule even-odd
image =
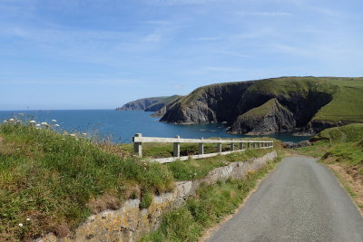
[[[213,82],[363,76],[361,0],[1,0],[0,110],[108,109]]]

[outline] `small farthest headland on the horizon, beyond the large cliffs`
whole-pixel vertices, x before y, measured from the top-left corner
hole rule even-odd
[[[132,102],[127,102],[123,107],[116,108],[117,111],[132,111],[132,110],[143,110],[143,111],[159,111],[167,103],[172,102],[182,96],[164,96],[164,97],[151,97],[143,98]]]

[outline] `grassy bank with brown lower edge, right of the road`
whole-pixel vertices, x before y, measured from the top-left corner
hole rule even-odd
[[[296,149],[334,171],[363,212],[363,123],[321,131],[312,146]]]

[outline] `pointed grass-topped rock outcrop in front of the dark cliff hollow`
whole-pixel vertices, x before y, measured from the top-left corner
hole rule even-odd
[[[273,98],[258,108],[240,115],[231,126],[231,133],[269,134],[290,131],[296,126],[294,115]]]

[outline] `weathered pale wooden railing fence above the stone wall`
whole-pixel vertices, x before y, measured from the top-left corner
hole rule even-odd
[[[133,140],[133,149],[139,157],[142,157],[142,143],[173,143],[174,146],[173,157],[154,159],[154,161],[160,163],[167,163],[175,160],[188,160],[189,158],[201,159],[201,158],[217,156],[219,154],[227,155],[233,152],[239,152],[250,149],[273,148],[272,140],[221,140],[221,138],[218,140],[204,140],[203,138],[198,140],[198,139],[181,139],[180,136],[176,136],[175,138],[158,138],[158,137],[142,137],[141,133],[136,133],[132,140]],[[181,157],[181,143],[198,143],[199,154]],[[216,143],[217,153],[204,154],[205,143]],[[226,143],[231,145],[231,150],[222,152],[221,146],[222,144]],[[239,144],[239,150],[235,150],[235,144]]]

